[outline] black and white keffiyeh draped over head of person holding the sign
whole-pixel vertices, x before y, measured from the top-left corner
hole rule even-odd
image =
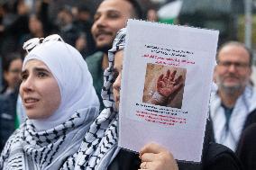
[[[102,89],[105,109],[91,125],[78,152],[78,164],[76,165],[80,167],[78,169],[105,170],[119,151],[117,147],[118,112],[113,96],[113,68],[114,54],[124,48],[125,35],[125,29],[118,31],[113,48],[108,52],[109,67],[105,69],[105,83]]]

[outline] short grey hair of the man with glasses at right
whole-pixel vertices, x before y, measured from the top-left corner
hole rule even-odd
[[[234,40],[231,40],[231,41],[227,41],[225,42],[223,45],[220,46],[220,48],[218,49],[217,51],[217,55],[216,55],[216,61],[218,62],[219,60],[219,53],[222,49],[224,49],[224,47],[227,47],[227,46],[237,46],[237,47],[242,47],[243,49],[245,49],[248,54],[249,54],[249,66],[251,67],[252,66],[252,63],[253,63],[253,54],[251,52],[251,49],[247,48],[242,42],[239,42],[239,41],[234,41]]]

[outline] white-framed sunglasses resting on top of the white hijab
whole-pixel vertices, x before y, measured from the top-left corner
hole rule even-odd
[[[64,40],[62,40],[62,38],[58,34],[52,34],[45,38],[32,38],[31,40],[27,40],[23,44],[23,49],[25,49],[27,53],[29,53],[33,48],[35,48],[39,44],[50,41],[50,40],[57,40],[57,41],[64,42]]]

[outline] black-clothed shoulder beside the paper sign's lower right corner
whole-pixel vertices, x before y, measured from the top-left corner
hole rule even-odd
[[[210,142],[203,159],[203,170],[242,170],[241,161],[230,148]]]

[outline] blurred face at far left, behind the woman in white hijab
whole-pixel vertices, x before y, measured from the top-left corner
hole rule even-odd
[[[8,86],[14,88],[16,85],[20,84],[21,77],[20,74],[22,72],[23,60],[21,58],[14,59],[9,67],[8,71],[5,71],[5,81]]]

